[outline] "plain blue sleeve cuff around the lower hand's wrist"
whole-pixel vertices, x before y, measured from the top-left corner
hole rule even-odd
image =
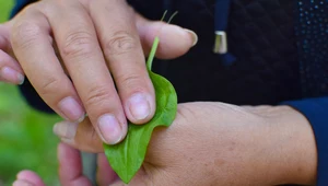
[[[317,142],[317,186],[328,185],[328,97],[284,102],[300,111],[311,121]]]

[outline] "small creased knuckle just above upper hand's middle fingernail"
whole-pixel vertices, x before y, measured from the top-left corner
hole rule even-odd
[[[110,91],[106,89],[106,85],[94,86],[89,91],[89,94],[85,100],[85,105],[87,107],[99,106],[102,103],[104,103],[105,100],[108,100],[108,97],[110,96]]]

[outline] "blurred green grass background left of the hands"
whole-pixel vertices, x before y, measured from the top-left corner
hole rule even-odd
[[[0,22],[9,18],[14,0],[0,0]],[[38,113],[24,102],[16,86],[0,82],[0,186],[9,186],[21,170],[37,172],[48,186],[57,186],[52,135],[57,116]]]

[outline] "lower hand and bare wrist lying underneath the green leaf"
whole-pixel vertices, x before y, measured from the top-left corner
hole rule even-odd
[[[66,143],[91,152],[103,151],[102,141],[92,132],[87,119],[80,125],[67,121],[57,125],[61,128],[58,135],[66,137]],[[124,185],[103,154],[99,156],[99,184]],[[81,185],[83,181],[87,185],[77,158],[77,151],[59,146],[63,186],[71,185],[68,181],[81,182]],[[305,117],[291,107],[190,103],[179,105],[169,128],[154,131],[144,164],[129,185],[309,185],[314,184],[315,174],[316,146],[312,128]]]

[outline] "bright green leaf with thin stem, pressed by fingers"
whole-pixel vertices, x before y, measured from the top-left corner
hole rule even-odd
[[[154,128],[171,126],[177,113],[177,95],[174,86],[165,78],[151,71],[157,45],[159,38],[156,37],[147,62],[156,94],[154,117],[144,125],[129,124],[128,135],[122,142],[115,146],[104,144],[110,166],[126,184],[141,167]]]

